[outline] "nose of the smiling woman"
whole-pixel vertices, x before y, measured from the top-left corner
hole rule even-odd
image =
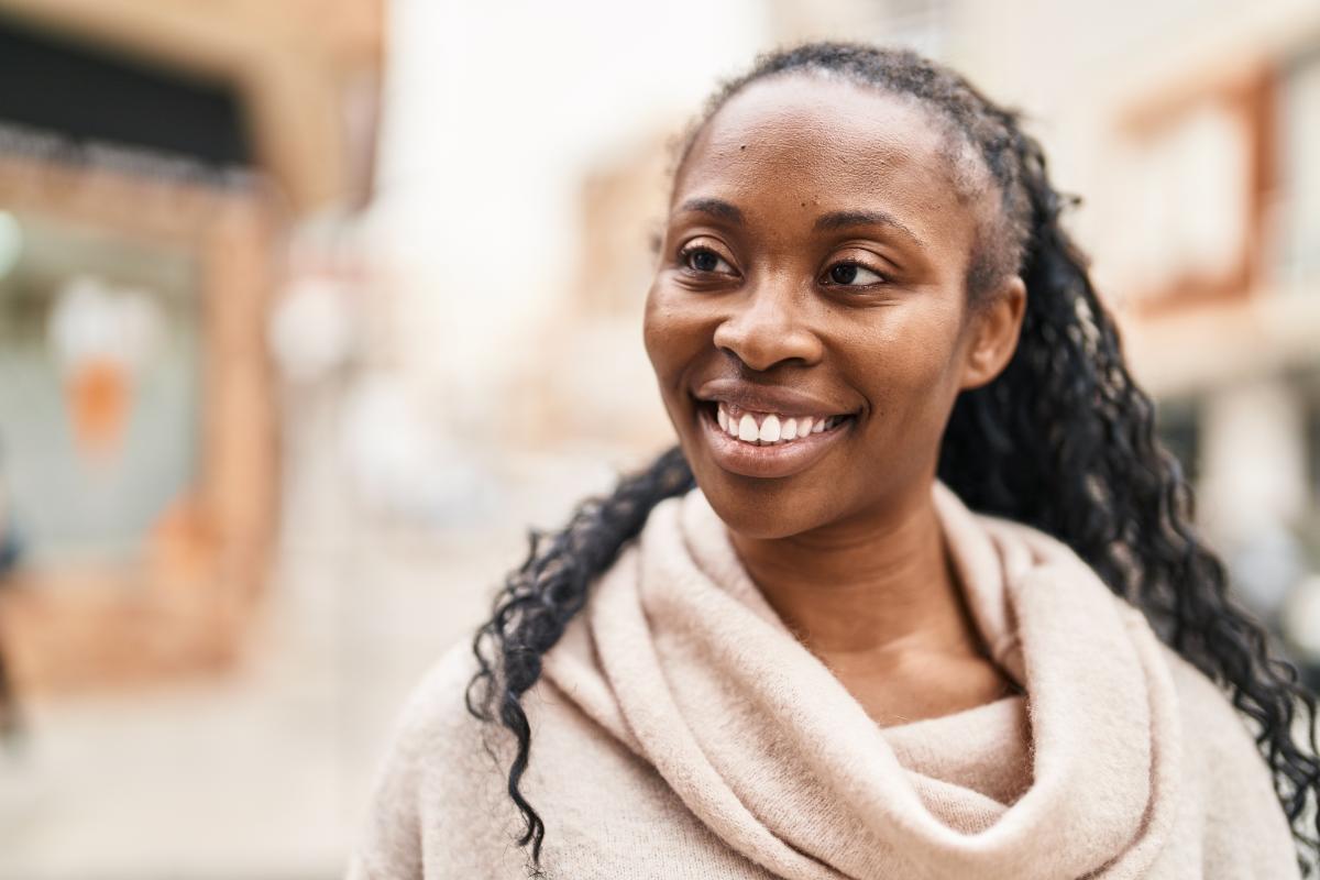
[[[747,290],[715,327],[715,347],[758,372],[784,361],[814,364],[821,358],[821,340],[805,322],[808,298],[789,284]]]

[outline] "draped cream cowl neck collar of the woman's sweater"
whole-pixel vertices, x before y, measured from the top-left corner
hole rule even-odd
[[[1026,697],[878,727],[768,606],[700,489],[652,511],[546,676],[779,876],[1143,876],[1180,760],[1158,640],[1059,541],[933,493],[985,644]]]

